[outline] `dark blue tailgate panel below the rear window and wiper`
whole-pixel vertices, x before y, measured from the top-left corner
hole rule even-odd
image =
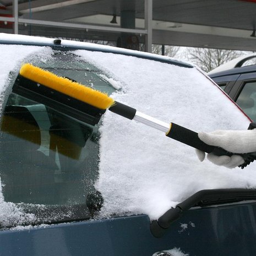
[[[252,256],[256,203],[192,209],[155,238],[148,216],[81,221],[0,232],[1,256],[153,255],[180,248],[197,256]]]

